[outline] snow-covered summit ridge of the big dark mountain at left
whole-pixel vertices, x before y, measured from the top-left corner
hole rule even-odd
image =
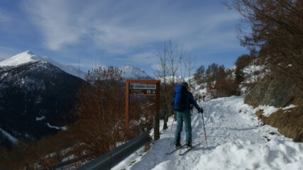
[[[53,64],[55,67],[62,69],[64,72],[68,74],[72,74],[75,77],[80,77],[83,79],[84,72],[81,70],[79,71],[75,67],[70,65],[63,65],[55,62],[49,57],[40,57],[39,55],[33,54],[31,51],[21,52],[18,55],[15,55],[8,60],[4,60],[0,62],[0,67],[16,67],[21,64],[27,64],[29,62],[43,62],[43,63],[50,63]]]

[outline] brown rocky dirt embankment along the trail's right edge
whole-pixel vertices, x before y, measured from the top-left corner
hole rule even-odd
[[[294,142],[303,142],[303,99],[299,89],[290,84],[286,79],[264,77],[246,96],[244,102],[250,106],[259,105],[275,106],[280,108],[272,115],[265,117],[263,111],[255,114],[266,125],[271,125]],[[294,108],[283,110],[293,104]]]

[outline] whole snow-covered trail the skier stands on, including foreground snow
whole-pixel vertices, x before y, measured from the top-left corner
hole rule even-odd
[[[201,145],[184,156],[179,155],[184,148],[167,155],[174,149],[175,122],[172,133],[170,127],[162,130],[160,140],[155,141],[148,152],[144,153],[141,149],[114,169],[284,169],[288,166],[303,169],[303,144],[279,135],[275,128],[261,126],[252,114],[252,108],[243,104],[243,97],[217,98],[199,103],[199,106],[204,108],[208,148],[202,115],[194,109],[192,141],[199,140]],[[172,117],[167,125],[171,124]],[[184,128],[181,142],[185,142]]]

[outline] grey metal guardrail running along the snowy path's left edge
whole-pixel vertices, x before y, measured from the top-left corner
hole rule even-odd
[[[80,170],[99,170],[99,169],[111,169],[116,164],[119,164],[123,159],[128,157],[130,154],[135,152],[140,147],[143,147],[148,141],[152,141],[148,132],[143,132],[143,134],[138,137],[133,138],[126,142],[125,144],[112,149],[110,152],[103,154],[101,157],[97,157],[92,162],[84,164],[79,167]]]

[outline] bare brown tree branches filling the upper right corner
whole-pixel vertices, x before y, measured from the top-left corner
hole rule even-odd
[[[232,0],[224,4],[250,23],[251,33],[238,29],[241,44],[259,50],[258,57],[275,73],[272,76],[287,78],[303,91],[303,1]]]

